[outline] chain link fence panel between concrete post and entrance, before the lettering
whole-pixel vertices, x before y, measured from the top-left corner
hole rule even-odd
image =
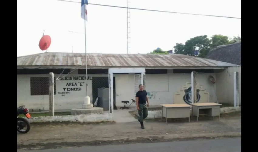
[[[109,113],[108,74],[103,74],[103,76],[88,75],[87,77],[83,74],[68,74],[65,77],[61,75],[56,81],[56,85],[56,115],[58,115],[57,112],[68,112],[70,109],[83,108],[82,104],[87,104],[86,96],[90,97],[90,104],[92,104],[93,107],[101,107],[104,113]]]

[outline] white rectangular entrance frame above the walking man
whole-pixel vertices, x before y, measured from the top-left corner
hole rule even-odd
[[[108,92],[109,92],[109,112],[114,112],[114,96],[113,96],[113,74],[116,73],[141,73],[141,84],[143,84],[143,75],[145,75],[144,67],[137,68],[109,68],[108,69]]]

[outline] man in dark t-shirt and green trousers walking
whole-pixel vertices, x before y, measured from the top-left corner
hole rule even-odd
[[[143,85],[139,85],[139,91],[136,93],[135,97],[136,97],[137,110],[140,116],[140,119],[138,119],[138,121],[141,124],[141,129],[144,129],[143,119],[147,118],[148,116],[149,101],[147,97],[147,92],[143,90]],[[147,106],[146,106],[146,101],[147,101]]]

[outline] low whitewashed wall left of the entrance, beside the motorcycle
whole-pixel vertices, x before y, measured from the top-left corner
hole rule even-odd
[[[46,117],[33,117],[28,119],[30,123],[42,122],[101,122],[113,121],[113,114],[85,114],[85,115],[69,115],[69,116],[46,116]]]

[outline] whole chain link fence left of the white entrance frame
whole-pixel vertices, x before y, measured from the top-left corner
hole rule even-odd
[[[49,116],[49,109],[52,109],[49,76],[49,74],[35,77],[28,76],[29,81],[17,77],[17,106],[25,105],[32,116]],[[93,107],[102,107],[103,113],[109,113],[108,74],[97,77],[88,76],[87,78],[83,74],[55,74],[53,80],[55,116],[70,115],[71,109],[81,109],[82,104],[87,103],[86,81],[90,103],[93,104]],[[26,87],[23,88],[22,84]],[[29,88],[27,87],[28,84]],[[113,86],[115,87],[115,84]]]

